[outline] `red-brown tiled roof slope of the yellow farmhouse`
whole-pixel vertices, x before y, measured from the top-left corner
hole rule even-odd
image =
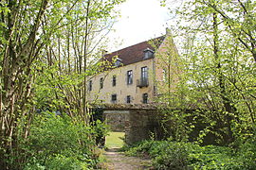
[[[165,36],[157,37],[155,39],[140,42],[135,45],[120,49],[110,54],[104,55],[105,59],[111,61],[114,57],[121,59],[122,65],[132,64],[138,61],[143,60],[144,50],[150,48],[155,51],[155,48],[158,48],[161,42],[163,42]],[[151,45],[154,44],[154,45]],[[153,47],[155,46],[155,48]]]

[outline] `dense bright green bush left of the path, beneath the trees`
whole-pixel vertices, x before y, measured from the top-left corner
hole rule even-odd
[[[26,169],[89,169],[98,158],[93,127],[74,122],[68,116],[37,115],[23,144]]]

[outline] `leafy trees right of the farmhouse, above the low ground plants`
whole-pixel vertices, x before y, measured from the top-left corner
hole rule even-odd
[[[214,135],[219,144],[255,133],[255,6],[254,1],[194,0],[176,10],[174,30],[183,40],[185,67],[170,95],[184,109],[197,110],[187,120],[203,123],[199,137]],[[183,93],[181,100],[177,93]]]

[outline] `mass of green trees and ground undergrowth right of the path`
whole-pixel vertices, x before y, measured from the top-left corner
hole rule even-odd
[[[176,21],[156,56],[164,81],[155,101],[169,140],[128,152],[146,152],[157,169],[255,169],[256,2],[162,3]]]

